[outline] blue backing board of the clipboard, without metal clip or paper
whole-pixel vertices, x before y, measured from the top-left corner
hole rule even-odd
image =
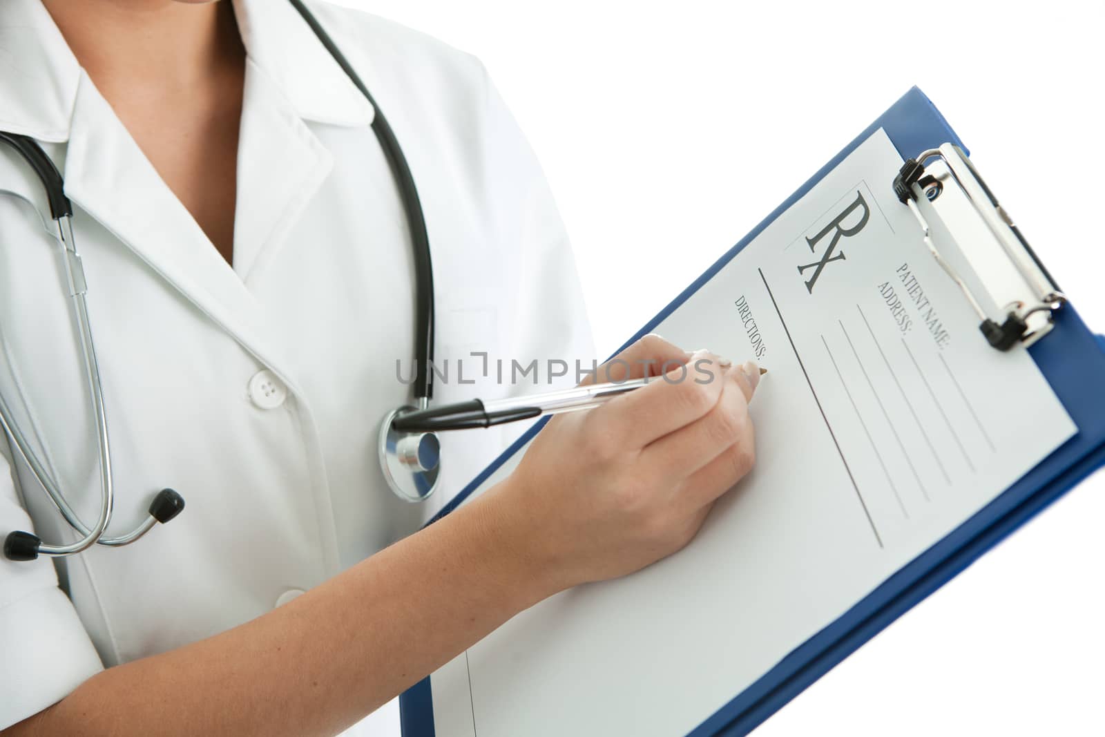
[[[912,88],[625,345],[651,333],[878,128],[885,130],[903,159],[945,143],[966,150],[933,103],[920,90]],[[1099,389],[1101,377],[1105,376],[1105,338],[1091,333],[1074,308],[1066,305],[1055,314],[1052,331],[1032,345],[1029,354],[1077,425],[1077,434],[975,516],[899,569],[843,617],[799,645],[728,704],[712,715],[703,715],[704,720],[691,731],[691,737],[747,735],[886,625],[1093,471],[1105,465],[1105,391]],[[544,421],[536,423],[504,451],[430,524],[460,505],[498,466],[528,443],[544,424]],[[429,677],[400,696],[400,717],[403,737],[433,737],[433,699]]]

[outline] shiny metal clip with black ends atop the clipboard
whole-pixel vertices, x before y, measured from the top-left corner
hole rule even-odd
[[[1051,331],[1054,313],[1066,304],[1066,295],[961,148],[944,144],[906,159],[894,178],[894,193],[917,219],[925,245],[967,297],[979,317],[979,330],[992,347],[1028,347]],[[971,271],[979,281],[986,280],[985,297],[971,289],[936,248],[923,210],[936,213]],[[985,223],[985,230],[979,228],[979,221]],[[962,240],[956,236],[957,230],[962,231]],[[997,308],[987,310],[983,302]]]

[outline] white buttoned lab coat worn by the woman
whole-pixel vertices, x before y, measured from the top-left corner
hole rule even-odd
[[[187,501],[130,547],[56,566],[0,560],[0,728],[103,666],[264,614],[434,508],[397,501],[377,461],[379,420],[410,398],[396,361],[406,376],[414,282],[397,190],[368,127],[373,109],[288,3],[234,7],[249,62],[231,267],[39,1],[0,3],[0,129],[45,146],[75,208],[115,464],[109,531],[130,529],[162,486]],[[454,361],[470,351],[589,361],[564,229],[480,63],[381,19],[312,7],[387,112],[419,187],[438,359],[452,364],[435,401],[535,390],[529,377],[499,386],[494,365],[483,377],[471,357],[464,379],[475,383],[459,383]],[[0,391],[94,520],[94,425],[53,222],[38,180],[7,147]],[[436,506],[494,457],[505,432],[443,438]],[[0,535],[76,539],[11,445],[0,451]]]

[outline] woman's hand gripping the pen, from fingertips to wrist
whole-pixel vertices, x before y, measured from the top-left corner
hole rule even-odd
[[[482,501],[504,516],[512,552],[552,591],[675,552],[753,466],[755,364],[650,335],[600,367],[598,380],[661,372],[594,410],[554,418]]]

